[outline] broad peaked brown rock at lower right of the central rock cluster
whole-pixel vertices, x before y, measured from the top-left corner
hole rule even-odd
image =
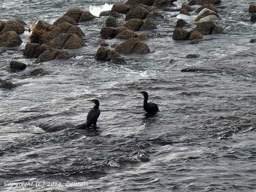
[[[148,46],[136,38],[130,38],[129,40],[119,44],[115,48],[115,51],[120,54],[150,53]]]

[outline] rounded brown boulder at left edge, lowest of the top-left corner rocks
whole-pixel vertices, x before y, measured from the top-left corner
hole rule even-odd
[[[0,36],[0,46],[14,47],[20,44],[22,40],[15,31],[8,31]]]

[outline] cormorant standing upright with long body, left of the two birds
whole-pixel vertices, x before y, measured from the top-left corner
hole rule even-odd
[[[87,115],[87,118],[86,118],[86,123],[85,123],[85,128],[89,128],[91,125],[96,125],[97,120],[100,116],[100,109],[99,109],[100,102],[97,99],[88,100],[88,101],[94,103],[95,105],[88,112],[88,115]]]

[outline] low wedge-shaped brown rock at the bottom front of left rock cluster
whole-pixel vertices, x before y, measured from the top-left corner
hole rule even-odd
[[[47,62],[50,60],[58,60],[58,59],[69,59],[70,54],[63,50],[57,50],[54,48],[49,48],[36,59],[35,63]]]

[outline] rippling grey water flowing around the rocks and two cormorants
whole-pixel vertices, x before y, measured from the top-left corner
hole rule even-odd
[[[109,6],[116,1],[107,2]],[[178,1],[180,6],[184,1]],[[0,20],[31,18],[52,23],[69,8],[94,10],[98,0],[0,0]],[[86,47],[70,60],[34,64],[20,49],[0,50],[0,78],[19,86],[0,90],[0,190],[38,192],[256,190],[256,24],[248,22],[251,0],[223,0],[217,22],[225,34],[200,44],[174,42],[178,12],[163,12],[145,42],[151,53],[126,56],[126,65],[99,62],[100,28],[106,17],[80,25]],[[93,12],[93,11],[92,11]],[[121,18],[120,21],[124,21]],[[110,44],[121,40],[108,40]],[[187,54],[200,54],[188,59]],[[174,59],[176,62],[170,63]],[[10,60],[28,64],[12,73]],[[205,72],[180,72],[200,66]],[[45,74],[31,77],[43,68]],[[160,112],[146,117],[143,98]],[[78,130],[100,100],[96,130]],[[62,183],[10,188],[4,182]],[[65,186],[66,182],[86,186]],[[54,184],[56,185],[56,184]]]

